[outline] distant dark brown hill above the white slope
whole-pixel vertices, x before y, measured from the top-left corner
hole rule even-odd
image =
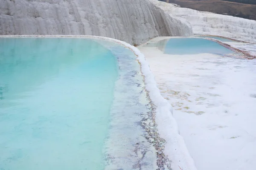
[[[169,0],[169,3],[198,11],[256,20],[256,0]]]

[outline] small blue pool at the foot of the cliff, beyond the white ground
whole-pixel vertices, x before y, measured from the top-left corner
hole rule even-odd
[[[163,40],[163,42],[159,41],[158,44],[165,44],[165,48],[163,48],[165,54],[184,55],[210,53],[225,55],[233,53],[233,51],[217,42],[202,38],[171,38],[169,40]]]

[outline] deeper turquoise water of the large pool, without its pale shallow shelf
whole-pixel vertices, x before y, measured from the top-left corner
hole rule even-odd
[[[102,170],[117,61],[97,42],[0,38],[0,170]]]

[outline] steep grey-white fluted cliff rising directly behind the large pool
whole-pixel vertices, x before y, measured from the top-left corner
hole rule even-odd
[[[85,34],[131,44],[192,34],[186,20],[152,1],[157,0],[0,0],[0,34]]]

